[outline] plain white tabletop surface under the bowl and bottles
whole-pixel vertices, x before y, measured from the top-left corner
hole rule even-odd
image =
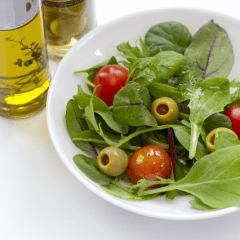
[[[239,0],[97,0],[98,25],[164,7],[206,8],[240,18]],[[52,73],[57,65],[50,61]],[[2,240],[240,239],[240,211],[207,220],[167,221],[104,201],[62,163],[48,133],[45,109],[25,120],[0,117],[0,129]]]

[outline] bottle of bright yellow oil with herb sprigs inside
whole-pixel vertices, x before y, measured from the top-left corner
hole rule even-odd
[[[50,85],[40,2],[0,5],[0,116],[26,118],[45,107]]]

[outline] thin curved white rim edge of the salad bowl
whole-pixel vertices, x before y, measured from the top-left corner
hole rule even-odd
[[[104,30],[105,28],[109,28],[111,26],[114,26],[116,23],[119,23],[123,20],[127,20],[127,19],[131,19],[134,18],[136,16],[139,15],[149,15],[151,13],[154,12],[166,12],[166,11],[188,11],[188,12],[199,12],[199,13],[203,13],[206,12],[208,14],[214,14],[214,15],[219,15],[222,16],[224,18],[228,18],[231,21],[237,21],[240,23],[240,19],[237,19],[236,17],[232,17],[228,14],[219,12],[219,11],[213,11],[213,10],[209,10],[206,8],[193,8],[193,7],[166,7],[166,8],[159,8],[159,9],[148,9],[148,10],[142,10],[142,11],[137,11],[134,13],[130,13],[130,14],[126,14],[125,16],[121,16],[118,17],[114,20],[112,20],[111,22],[106,22],[103,23],[100,26],[97,26],[96,28],[92,29],[90,32],[88,32],[86,35],[84,35],[80,40],[78,40],[78,42],[68,51],[68,53],[63,57],[63,59],[59,62],[58,67],[54,73],[54,76],[52,77],[51,80],[51,84],[49,87],[49,91],[48,91],[48,97],[47,97],[47,104],[46,104],[46,117],[47,117],[47,125],[48,125],[48,130],[49,130],[49,134],[52,140],[52,143],[54,145],[54,148],[56,149],[60,159],[62,160],[62,162],[64,163],[64,165],[67,167],[67,169],[85,186],[87,187],[89,190],[91,190],[93,193],[95,193],[96,195],[98,195],[99,197],[103,198],[104,200],[106,200],[107,202],[117,206],[117,207],[121,207],[122,209],[125,209],[127,211],[142,215],[142,216],[147,216],[147,217],[152,217],[152,218],[158,218],[158,219],[165,219],[165,220],[202,220],[202,219],[209,219],[209,218],[215,218],[215,217],[219,217],[219,216],[224,216],[226,214],[230,214],[233,212],[236,212],[239,210],[239,208],[237,207],[230,207],[230,208],[225,208],[225,209],[220,209],[220,210],[216,210],[216,211],[207,211],[207,212],[201,212],[201,214],[191,214],[191,215],[174,215],[174,214],[159,214],[159,213],[155,213],[155,212],[149,212],[148,210],[144,210],[144,209],[140,209],[137,208],[133,205],[129,205],[126,202],[129,202],[127,200],[122,200],[119,198],[116,198],[106,192],[103,192],[101,189],[97,188],[96,186],[94,186],[94,184],[91,184],[90,182],[88,182],[84,177],[82,177],[81,175],[78,174],[78,171],[76,171],[76,169],[73,169],[69,164],[68,164],[68,159],[66,159],[65,157],[63,157],[63,152],[62,149],[58,146],[56,140],[55,140],[55,135],[53,132],[53,127],[52,127],[52,121],[51,121],[51,97],[52,97],[52,93],[54,91],[54,85],[56,82],[56,76],[58,74],[58,70],[61,69],[62,67],[64,67],[65,62],[67,61],[67,59],[74,53],[74,51],[79,48],[81,46],[81,44],[84,44],[89,38],[93,37],[94,34],[101,32],[102,30]]]

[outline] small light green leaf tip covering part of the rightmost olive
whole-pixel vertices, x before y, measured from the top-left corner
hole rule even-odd
[[[230,132],[226,131],[219,131],[215,135],[214,139],[214,146],[216,150],[234,146],[234,145],[239,145],[240,141],[238,137]]]

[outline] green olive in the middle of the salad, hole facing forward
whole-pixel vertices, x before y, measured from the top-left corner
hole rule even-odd
[[[169,97],[156,99],[151,106],[152,115],[160,124],[171,124],[178,119],[177,103]]]

